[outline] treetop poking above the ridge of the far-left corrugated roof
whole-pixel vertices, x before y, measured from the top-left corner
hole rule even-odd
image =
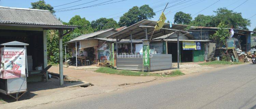
[[[38,2],[31,2],[30,9],[39,9],[39,10],[49,10],[52,14],[55,13],[53,6],[46,4],[44,0],[39,0]]]

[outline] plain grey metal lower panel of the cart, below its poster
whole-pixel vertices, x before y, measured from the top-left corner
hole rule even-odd
[[[27,78],[7,79],[8,94],[27,91]]]

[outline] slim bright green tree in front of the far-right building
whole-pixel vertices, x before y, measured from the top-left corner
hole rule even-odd
[[[228,25],[226,25],[224,22],[221,22],[217,27],[219,29],[213,35],[210,35],[210,38],[216,43],[220,44],[219,46],[222,47],[225,44],[226,39],[230,36],[229,30],[225,29],[228,28]]]

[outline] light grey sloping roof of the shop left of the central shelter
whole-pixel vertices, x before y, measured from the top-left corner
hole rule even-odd
[[[84,40],[84,39],[87,39],[87,38],[91,38],[93,36],[96,36],[96,35],[99,35],[101,33],[104,33],[104,32],[107,32],[107,31],[116,31],[114,28],[110,28],[110,29],[105,29],[105,30],[100,30],[100,31],[96,31],[96,32],[93,32],[93,33],[88,33],[88,34],[83,34],[81,36],[78,36],[72,40],[70,40],[69,42],[67,43],[70,43],[70,42],[73,42],[73,41],[79,41],[79,40]]]

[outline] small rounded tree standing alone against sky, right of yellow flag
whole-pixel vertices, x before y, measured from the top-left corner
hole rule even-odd
[[[175,24],[184,24],[184,25],[188,25],[192,20],[191,14],[186,14],[183,12],[177,12],[174,15],[174,23]]]

